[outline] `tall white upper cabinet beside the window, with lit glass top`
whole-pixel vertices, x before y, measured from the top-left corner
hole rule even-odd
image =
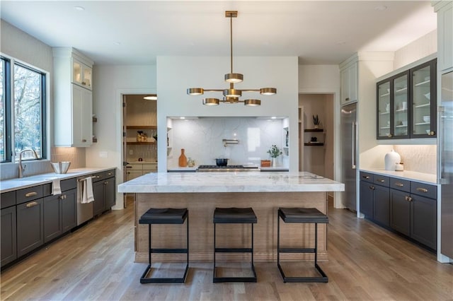
[[[87,147],[93,143],[93,61],[76,49],[57,47],[54,56],[54,144]]]

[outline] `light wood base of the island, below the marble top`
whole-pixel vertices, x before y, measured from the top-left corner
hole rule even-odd
[[[258,218],[253,226],[254,258],[256,261],[277,260],[277,208],[312,207],[327,214],[325,192],[224,192],[224,193],[154,193],[137,194],[136,198],[136,255],[135,261],[148,261],[148,225],[139,225],[139,217],[149,208],[188,208],[190,232],[190,261],[212,261],[216,207],[252,207]],[[313,247],[314,225],[280,222],[283,247]],[[185,227],[153,225],[153,247],[184,247]],[[182,244],[182,245],[181,245]],[[306,245],[308,244],[308,246]],[[250,224],[217,225],[218,247],[250,245]],[[318,260],[326,261],[326,225],[318,225]],[[179,256],[179,258],[178,258]],[[184,254],[153,254],[153,261],[180,259]],[[250,260],[250,254],[226,254],[228,260]],[[222,260],[222,254],[217,255]],[[285,259],[313,260],[314,254],[285,254]]]

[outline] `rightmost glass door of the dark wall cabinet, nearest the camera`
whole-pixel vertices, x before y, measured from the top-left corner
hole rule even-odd
[[[432,62],[412,71],[412,136],[435,136],[435,68]]]

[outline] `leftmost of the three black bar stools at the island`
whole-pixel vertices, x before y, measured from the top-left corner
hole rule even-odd
[[[186,222],[187,227],[187,247],[185,249],[156,249],[151,248],[151,225],[152,224],[183,224]],[[189,211],[187,208],[150,208],[144,213],[139,224],[148,224],[148,266],[140,277],[140,283],[185,283],[189,268]],[[151,271],[151,253],[185,253],[187,254],[184,276],[181,278],[147,278],[147,274]]]

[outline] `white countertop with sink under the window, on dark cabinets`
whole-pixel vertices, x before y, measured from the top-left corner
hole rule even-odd
[[[68,172],[65,174],[56,174],[55,172],[49,172],[46,174],[32,175],[23,178],[4,179],[0,181],[0,192],[8,192],[17,189],[33,187],[40,184],[46,184],[52,182],[53,179],[70,179],[71,177],[81,177],[84,175],[90,175],[94,172],[103,172],[113,169],[115,169],[115,167],[84,167],[68,170]]]

